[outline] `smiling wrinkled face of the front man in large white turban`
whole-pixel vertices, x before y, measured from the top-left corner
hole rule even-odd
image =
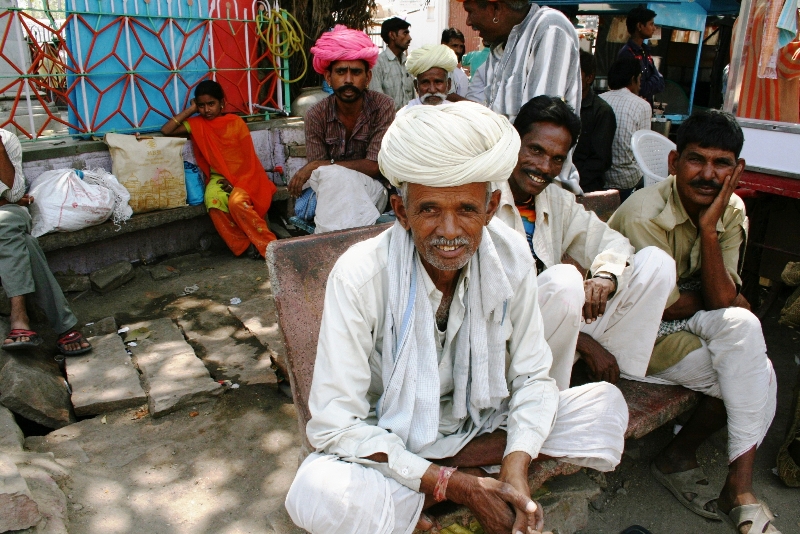
[[[500,202],[500,192],[486,202],[486,183],[458,187],[408,185],[408,205],[392,197],[397,219],[411,230],[423,263],[440,271],[464,267],[481,244],[483,227],[489,224]]]

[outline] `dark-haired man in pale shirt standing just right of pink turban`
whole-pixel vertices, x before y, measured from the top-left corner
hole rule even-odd
[[[383,21],[381,38],[386,49],[378,56],[369,83],[371,91],[392,97],[395,111],[414,98],[414,79],[406,70],[406,51],[411,44],[410,27],[411,24],[398,17]]]

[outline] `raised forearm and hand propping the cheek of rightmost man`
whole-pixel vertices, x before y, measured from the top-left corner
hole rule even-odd
[[[739,177],[744,170],[744,161],[740,161],[733,173],[725,178],[717,198],[706,208],[698,220],[700,233],[700,280],[705,309],[718,310],[727,308],[739,294],[736,283],[731,278],[722,257],[722,249],[717,234],[717,222],[725,213],[731,195],[739,184]]]

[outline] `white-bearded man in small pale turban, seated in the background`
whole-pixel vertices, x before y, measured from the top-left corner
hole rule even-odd
[[[442,44],[423,45],[408,54],[406,69],[414,77],[417,98],[406,107],[428,104],[437,106],[447,100],[453,92],[452,75],[458,67],[458,58],[453,49]]]

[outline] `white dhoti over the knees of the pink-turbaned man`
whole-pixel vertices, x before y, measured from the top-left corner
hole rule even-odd
[[[305,187],[317,193],[315,234],[375,224],[389,200],[378,180],[341,165],[318,168]]]

